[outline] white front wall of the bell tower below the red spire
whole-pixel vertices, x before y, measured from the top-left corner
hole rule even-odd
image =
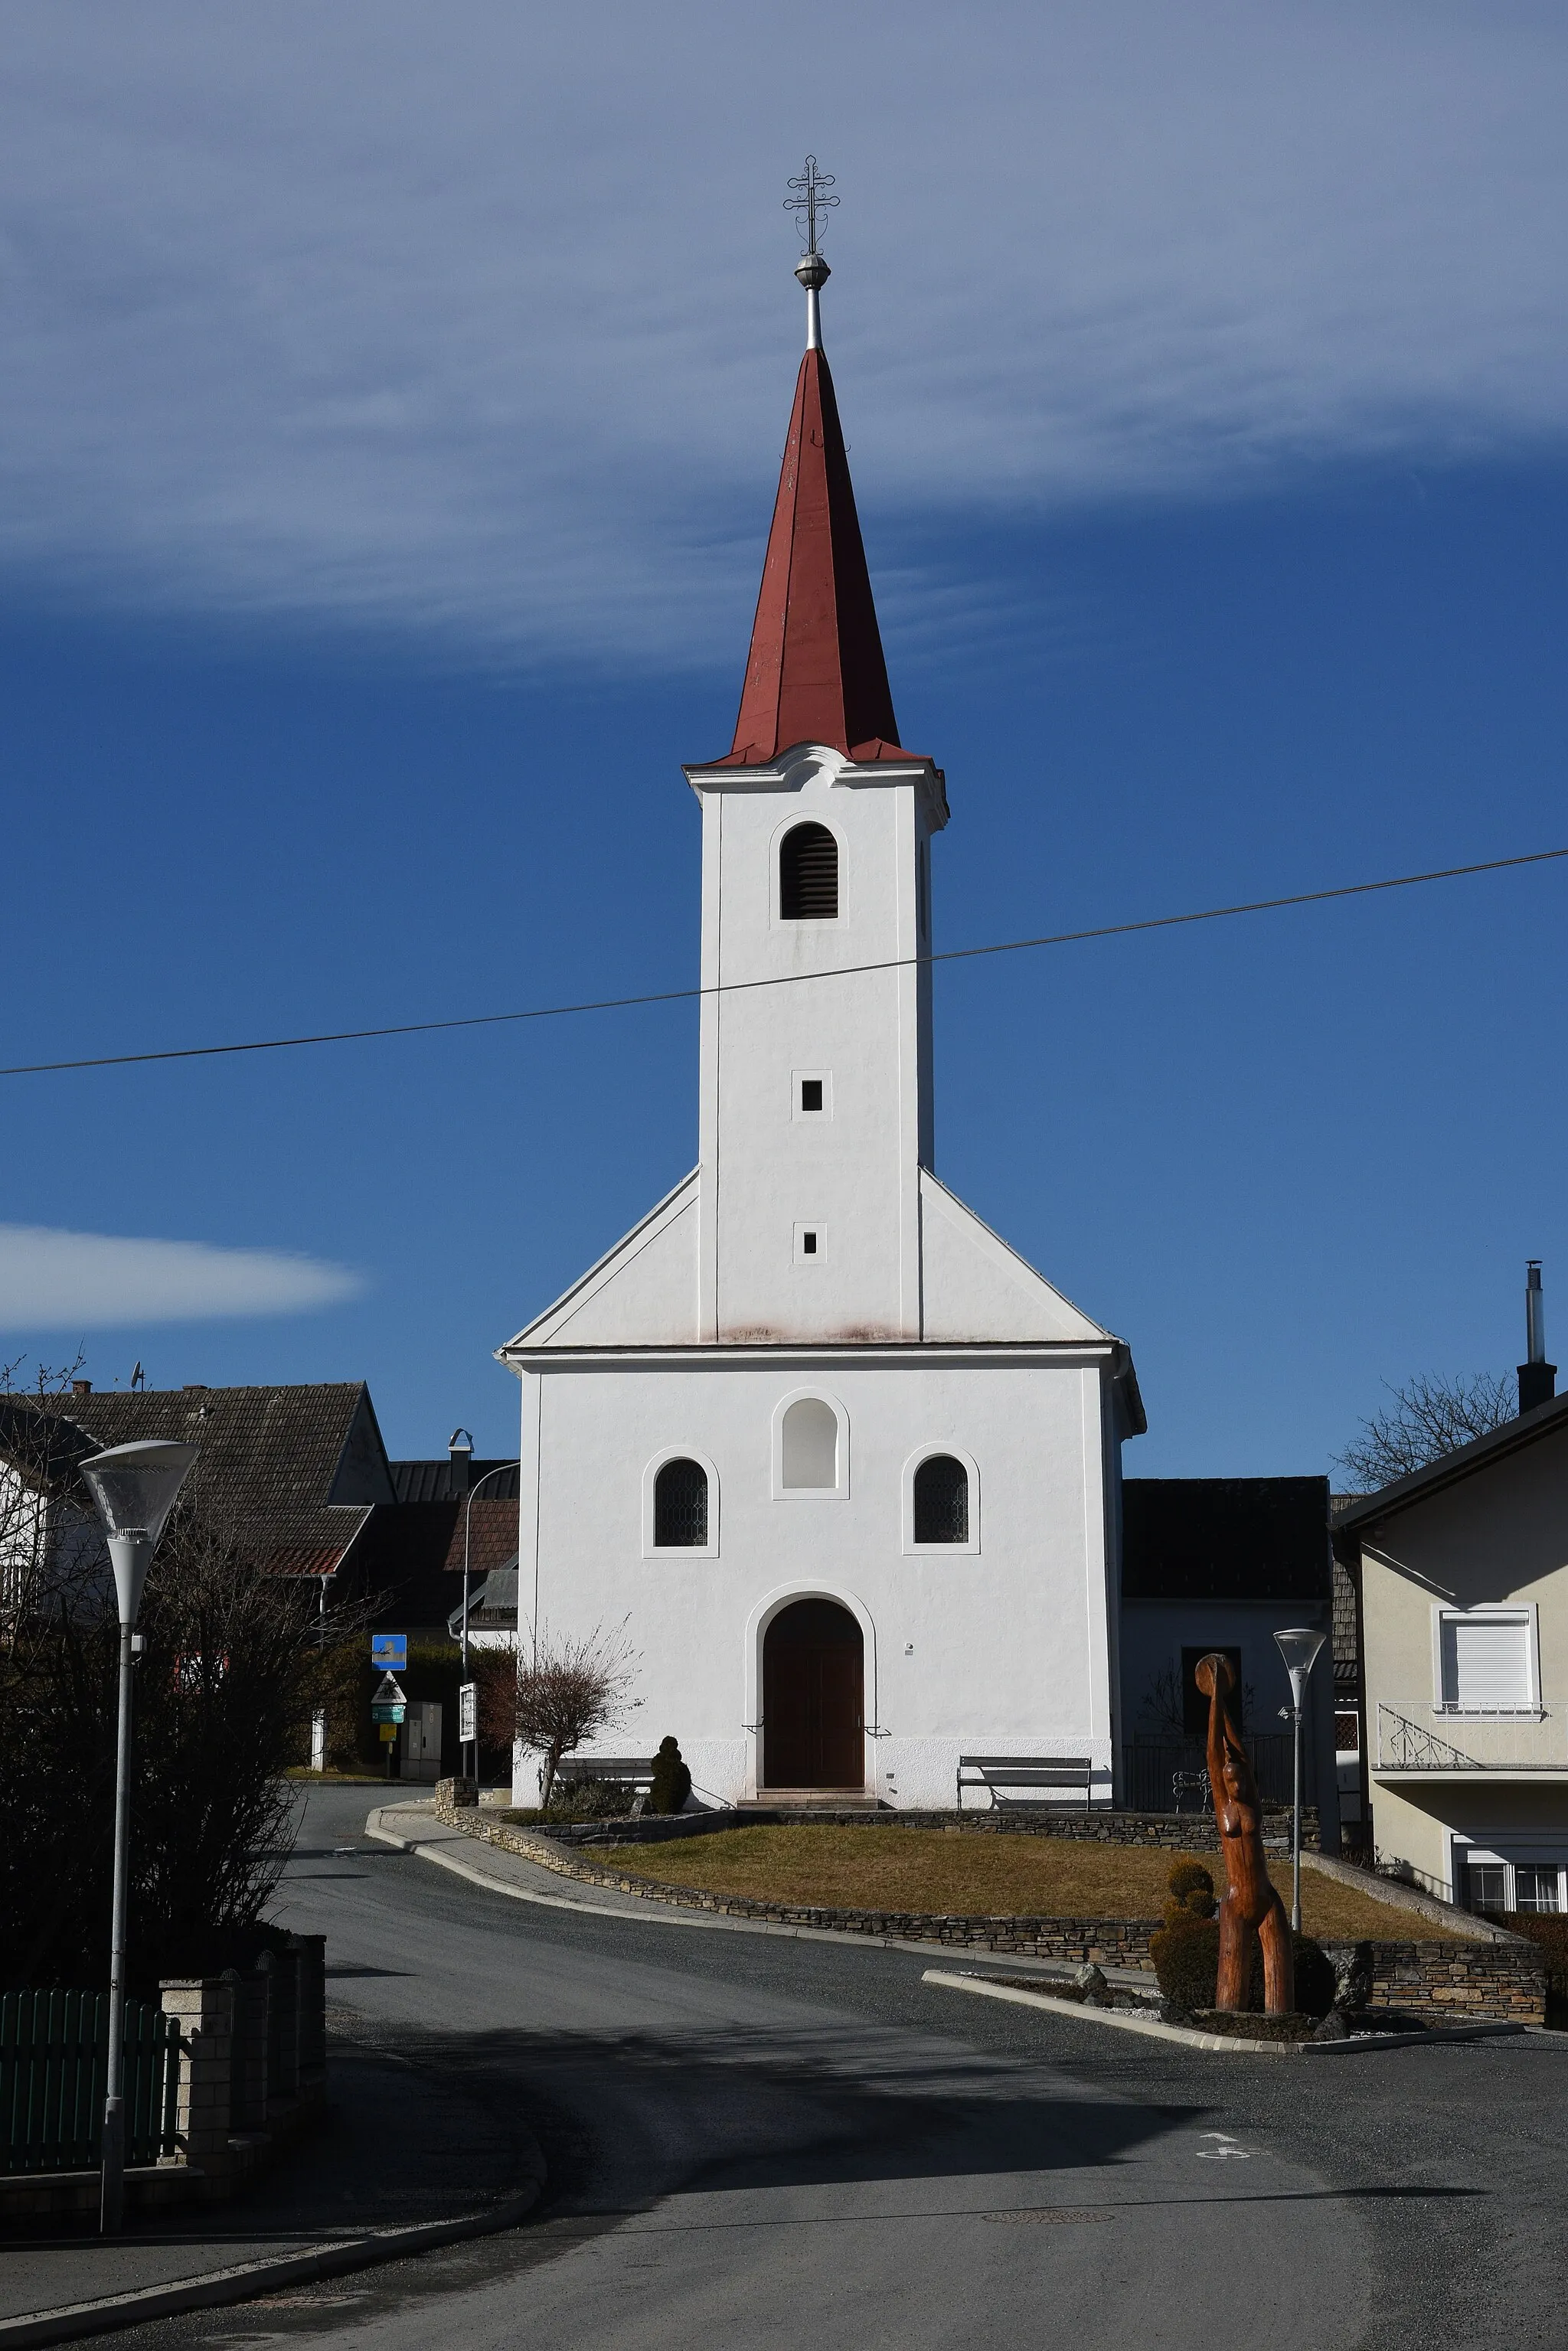
[[[778,844],[804,820],[839,842],[837,922],[778,915]],[[771,788],[703,785],[703,985],[726,990],[703,1002],[710,1338],[919,1335],[924,997],[912,964],[813,980],[919,952],[919,828],[912,781],[832,752]],[[797,1117],[802,1070],[830,1077],[830,1114]]]

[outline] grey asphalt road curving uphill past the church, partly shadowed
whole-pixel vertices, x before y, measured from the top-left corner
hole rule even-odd
[[[139,2327],[367,2351],[1523,2351],[1561,2309],[1568,2043],[1180,2045],[922,1984],[912,1954],[503,1900],[317,1789],[280,1914],[341,2031],[550,2163],[501,2238]],[[388,2165],[418,2165],[390,2137]]]

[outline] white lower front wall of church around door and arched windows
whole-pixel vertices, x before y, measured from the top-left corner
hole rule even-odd
[[[625,1620],[644,1704],[599,1749],[651,1754],[675,1733],[698,1789],[733,1801],[757,1784],[759,1610],[827,1594],[867,1629],[865,1712],[879,1733],[867,1784],[879,1794],[952,1803],[957,1756],[973,1749],[1093,1754],[1110,1794],[1100,1380],[1103,1364],[1081,1359],[715,1357],[642,1371],[536,1359],[524,1380],[522,1629],[534,1566],[550,1627]],[[849,1415],[846,1495],[773,1498],[773,1411],[802,1387]],[[642,1472],[672,1446],[717,1469],[715,1559],[642,1556]],[[905,1552],[905,1465],[922,1446],[954,1446],[978,1465],[978,1552]]]

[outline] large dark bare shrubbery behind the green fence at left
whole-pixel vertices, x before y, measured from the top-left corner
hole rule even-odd
[[[0,1538],[14,1538],[0,1566],[16,1568],[0,1639],[5,1987],[92,1984],[108,1958],[118,1615],[75,1483],[80,1439],[61,1444],[68,1401],[0,1396]],[[313,1578],[261,1573],[181,1500],[136,1662],[132,1951],[146,1980],[247,1961],[292,1843],[284,1766],[355,1622],[322,1617]]]

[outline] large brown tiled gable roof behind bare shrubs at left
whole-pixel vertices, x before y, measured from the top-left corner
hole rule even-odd
[[[331,1575],[393,1481],[362,1380],[310,1387],[148,1387],[45,1396],[19,1408],[54,1422],[49,1436],[71,1469],[136,1439],[197,1446],[186,1493],[235,1540],[256,1547],[275,1575]],[[14,1411],[14,1408],[12,1408]],[[28,1425],[9,1418],[26,1448]],[[0,1444],[5,1444],[0,1429]],[[7,1446],[9,1451],[9,1446]]]

